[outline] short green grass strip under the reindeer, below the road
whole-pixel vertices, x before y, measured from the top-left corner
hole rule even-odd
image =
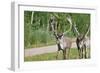
[[[90,58],[90,50],[88,50],[88,54],[89,54],[88,58]],[[77,49],[73,48],[70,50],[69,59],[79,59]],[[25,62],[26,61],[46,61],[46,60],[56,60],[56,52],[24,57]],[[62,51],[60,52],[57,60],[63,60]]]

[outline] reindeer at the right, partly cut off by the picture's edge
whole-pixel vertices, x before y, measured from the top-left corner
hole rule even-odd
[[[70,17],[69,20],[70,24],[72,24],[72,19]],[[76,45],[79,53],[79,58],[87,58],[87,40],[86,35],[89,32],[89,25],[87,27],[87,30],[84,34],[80,34],[79,31],[76,28],[76,24],[74,22],[74,25],[72,26],[74,34],[77,36],[76,38]]]

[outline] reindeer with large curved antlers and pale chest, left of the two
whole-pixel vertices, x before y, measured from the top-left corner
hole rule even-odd
[[[69,18],[67,18],[67,19],[69,19]],[[72,25],[70,25],[69,30],[67,30],[66,32],[58,33],[57,30],[56,30],[57,21],[56,21],[56,18],[54,16],[52,16],[50,18],[49,25],[50,25],[50,28],[53,31],[53,34],[56,38],[56,44],[58,46],[56,59],[58,58],[60,51],[63,52],[63,59],[69,58],[72,40],[69,37],[65,37],[65,34],[72,29]],[[67,56],[66,56],[66,54],[67,54]]]

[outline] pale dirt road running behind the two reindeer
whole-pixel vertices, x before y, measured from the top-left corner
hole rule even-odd
[[[76,48],[76,43],[73,43],[71,48]],[[44,54],[44,53],[52,53],[56,51],[57,51],[57,45],[52,45],[52,46],[45,46],[40,48],[25,49],[24,55],[26,57],[26,56],[34,56],[34,55]]]

